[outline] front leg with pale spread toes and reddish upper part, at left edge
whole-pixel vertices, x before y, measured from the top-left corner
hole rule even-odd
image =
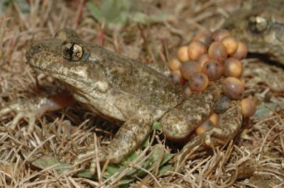
[[[67,92],[56,94],[55,96],[38,96],[27,101],[19,101],[18,103],[10,104],[4,109],[0,110],[0,117],[11,112],[16,113],[9,129],[14,131],[18,122],[21,119],[28,119],[28,131],[33,132],[35,127],[35,120],[40,118],[45,111],[55,111],[61,109],[73,101],[72,97]]]

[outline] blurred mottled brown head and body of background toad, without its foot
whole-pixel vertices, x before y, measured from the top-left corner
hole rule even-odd
[[[267,26],[255,30],[251,16],[261,16]],[[247,0],[240,10],[231,15],[224,28],[248,45],[249,52],[266,54],[284,65],[284,6],[283,0]],[[256,26],[258,27],[258,26]]]

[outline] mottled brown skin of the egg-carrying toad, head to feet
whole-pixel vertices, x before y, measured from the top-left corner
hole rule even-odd
[[[76,49],[82,48],[84,52],[70,53],[66,50],[72,46],[70,44],[76,44]],[[76,61],[69,59],[73,56]],[[211,82],[204,92],[194,92],[184,99],[180,87],[173,84],[169,77],[137,60],[117,55],[99,45],[85,43],[70,29],[59,31],[55,38],[34,43],[27,50],[26,58],[37,72],[58,79],[75,101],[109,121],[122,124],[107,148],[99,149],[99,161],[123,160],[148,136],[155,121],[163,124],[163,132],[167,138],[186,138],[208,118],[221,95],[219,87]],[[23,117],[32,119],[31,123],[34,123],[35,118],[43,114],[43,111],[38,112],[41,106],[53,105],[45,96],[36,99],[7,106],[0,111],[0,116],[15,111],[21,114],[15,117],[15,124]],[[23,109],[26,110],[25,114]],[[56,109],[60,109],[60,106],[52,110]],[[222,116],[224,121],[221,120],[218,127],[195,139],[212,145],[233,138],[241,126],[239,109],[239,101],[233,102]],[[195,142],[185,145],[176,160],[180,160],[188,148],[195,145]],[[75,163],[94,154],[94,151],[81,154]],[[91,172],[94,172],[95,164],[93,160]]]

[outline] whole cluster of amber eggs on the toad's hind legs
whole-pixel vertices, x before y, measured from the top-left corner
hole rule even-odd
[[[244,79],[241,79],[246,57],[246,45],[234,38],[225,29],[214,32],[202,31],[192,38],[187,46],[178,49],[177,57],[168,61],[171,77],[185,87],[185,94],[202,92],[209,82],[222,82],[222,92],[229,99],[241,99],[244,94]],[[242,113],[250,117],[256,111],[251,99],[242,99]],[[217,114],[212,114],[203,124],[217,124]],[[206,125],[208,124],[208,125]],[[198,131],[198,130],[197,130]]]

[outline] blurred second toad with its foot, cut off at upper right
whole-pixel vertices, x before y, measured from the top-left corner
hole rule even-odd
[[[276,92],[284,91],[284,6],[283,0],[248,0],[243,1],[241,9],[231,15],[224,23],[232,35],[248,45],[249,52],[256,57],[264,55],[273,65],[251,66],[244,71],[249,74],[253,84],[265,83]],[[265,59],[266,59],[265,58]]]

